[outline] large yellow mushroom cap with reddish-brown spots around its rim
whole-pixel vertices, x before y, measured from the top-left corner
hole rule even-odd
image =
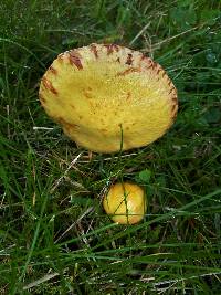
[[[43,75],[39,96],[71,139],[98,152],[152,143],[178,109],[176,87],[162,67],[115,44],[60,54]]]

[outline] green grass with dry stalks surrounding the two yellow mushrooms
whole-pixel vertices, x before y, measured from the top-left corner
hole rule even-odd
[[[219,1],[0,3],[0,294],[220,294]],[[179,93],[173,127],[122,155],[70,141],[40,107],[60,53],[115,42],[159,62]],[[140,183],[148,210],[115,225],[110,182]]]

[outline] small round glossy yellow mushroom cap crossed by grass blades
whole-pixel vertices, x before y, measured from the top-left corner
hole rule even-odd
[[[147,201],[144,190],[134,183],[116,183],[104,197],[103,207],[114,222],[134,224],[139,222],[146,212]]]

